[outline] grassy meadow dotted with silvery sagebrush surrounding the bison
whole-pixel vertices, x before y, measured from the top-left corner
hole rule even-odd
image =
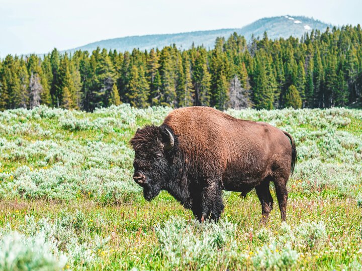
[[[128,141],[169,111],[1,112],[0,270],[362,269],[361,110],[227,111],[296,140],[287,223],[276,207],[266,227],[254,191],[224,192],[218,223],[165,192],[143,199]]]

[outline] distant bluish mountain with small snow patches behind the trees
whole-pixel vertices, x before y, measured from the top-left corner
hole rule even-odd
[[[255,38],[261,38],[265,31],[270,39],[289,38],[290,36],[300,38],[305,32],[311,32],[312,29],[325,31],[327,27],[332,26],[304,16],[279,16],[263,18],[242,28],[131,36],[89,43],[66,51],[87,50],[91,52],[97,47],[118,51],[132,51],[134,48],[138,48],[143,51],[172,44],[178,48],[188,49],[193,43],[195,46],[204,45],[206,48],[213,48],[217,37],[227,39],[234,32],[243,35],[247,40],[250,40],[252,35]]]

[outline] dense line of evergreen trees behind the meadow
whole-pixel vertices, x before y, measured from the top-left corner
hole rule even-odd
[[[0,60],[0,109],[40,104],[92,111],[130,103],[325,108],[361,106],[362,31],[345,26],[301,39],[253,38],[234,33],[212,50],[175,45],[149,52],[101,50]]]

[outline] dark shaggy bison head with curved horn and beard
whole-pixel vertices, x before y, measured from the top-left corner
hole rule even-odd
[[[134,181],[143,187],[146,200],[156,197],[170,179],[175,137],[165,125],[138,129],[130,144],[135,151]]]

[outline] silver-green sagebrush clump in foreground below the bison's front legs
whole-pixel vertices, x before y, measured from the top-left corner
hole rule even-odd
[[[227,265],[237,257],[234,240],[236,224],[226,220],[219,223],[198,221],[188,223],[185,219],[172,217],[163,225],[156,225],[155,231],[160,243],[162,256],[168,268],[194,266],[201,268],[218,261]]]

